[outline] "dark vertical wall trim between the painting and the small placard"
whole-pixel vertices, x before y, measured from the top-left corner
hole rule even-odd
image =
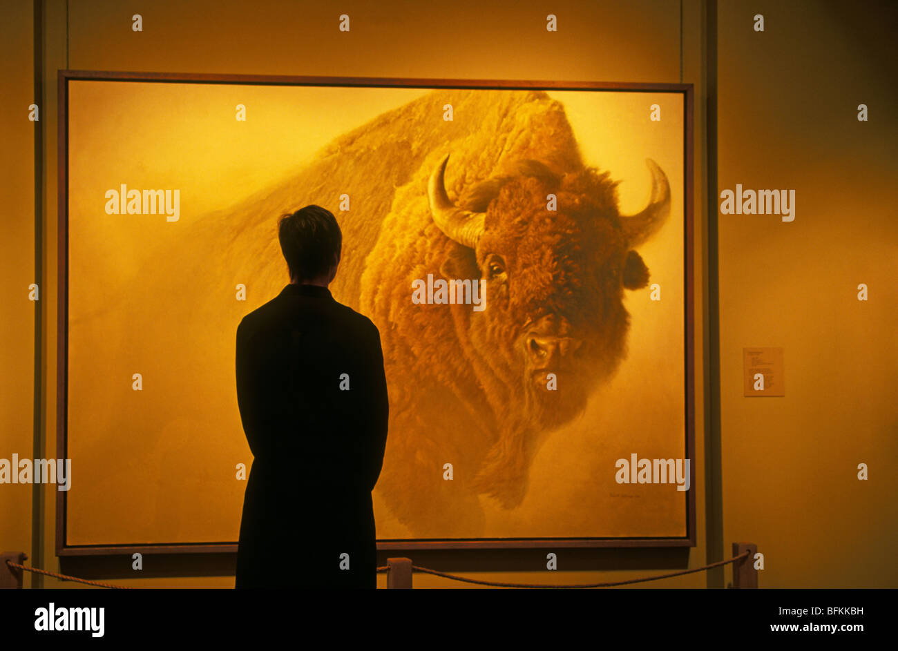
[[[708,310],[708,338],[705,339],[705,524],[707,562],[724,559],[723,469],[720,450],[720,278],[718,269],[718,2],[704,0],[704,38],[702,46],[707,92],[708,165],[708,282],[705,302]],[[724,587],[724,568],[707,573],[709,588]]]

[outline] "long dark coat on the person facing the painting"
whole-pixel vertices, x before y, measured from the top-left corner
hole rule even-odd
[[[243,318],[236,357],[255,459],[235,586],[374,588],[371,491],[389,411],[380,333],[326,287],[288,285]]]

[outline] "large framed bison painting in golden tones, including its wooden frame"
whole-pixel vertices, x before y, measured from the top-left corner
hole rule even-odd
[[[59,99],[58,554],[236,549],[235,332],[309,204],[381,334],[380,549],[695,544],[691,85],[62,71]]]

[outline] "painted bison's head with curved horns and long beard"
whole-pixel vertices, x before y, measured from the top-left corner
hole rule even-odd
[[[524,161],[466,189],[456,205],[445,190],[448,159],[429,179],[430,211],[456,244],[444,276],[485,281],[486,310],[456,309],[453,318],[464,320],[456,323],[465,332],[463,352],[501,424],[480,484],[509,506],[523,499],[541,433],[581,412],[626,355],[623,292],[648,282],[634,248],[664,224],[670,187],[648,160],[648,206],[621,216],[608,172],[559,174]],[[556,197],[555,210],[549,195]]]

